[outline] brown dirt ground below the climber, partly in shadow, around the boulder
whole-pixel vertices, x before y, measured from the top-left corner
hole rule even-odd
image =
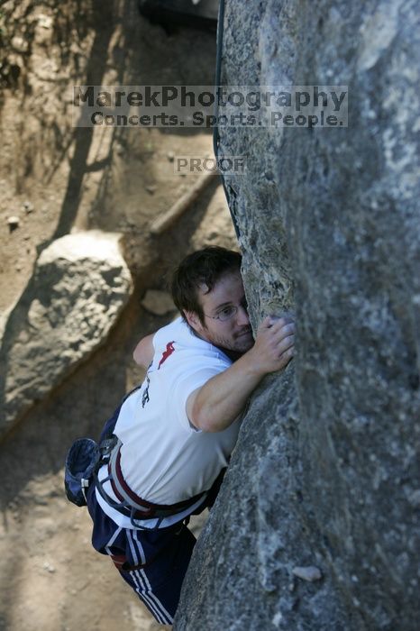
[[[210,133],[75,129],[71,90],[212,84],[215,33],[167,32],[131,0],[6,2],[0,27],[0,311],[13,308],[43,248],[71,230],[122,233],[135,279],[103,346],[0,444],[0,629],[150,631],[161,626],[91,548],[87,511],[66,500],[63,462],[72,441],[96,437],[142,379],[135,343],[174,315],[148,312],[146,290],[163,288],[188,250],[233,246],[234,233],[218,178],[167,233],[149,231],[196,178],[174,175],[173,156],[211,155]]]

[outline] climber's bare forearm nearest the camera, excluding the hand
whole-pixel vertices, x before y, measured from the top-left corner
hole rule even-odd
[[[245,353],[198,390],[188,415],[191,423],[205,432],[223,431],[242,413],[262,377]]]

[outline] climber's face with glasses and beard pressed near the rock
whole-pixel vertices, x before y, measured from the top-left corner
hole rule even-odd
[[[222,350],[239,354],[249,351],[254,339],[240,272],[226,272],[211,291],[202,285],[198,294],[204,322],[198,315],[186,313],[196,334]]]

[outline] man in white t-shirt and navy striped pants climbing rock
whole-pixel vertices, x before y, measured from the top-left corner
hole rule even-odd
[[[241,255],[219,247],[181,262],[181,316],[134,350],[146,378],[105,425],[116,438],[87,491],[94,547],[161,624],[196,542],[188,518],[213,503],[251,392],[294,352],[290,318],[266,317],[254,342],[240,269]]]

